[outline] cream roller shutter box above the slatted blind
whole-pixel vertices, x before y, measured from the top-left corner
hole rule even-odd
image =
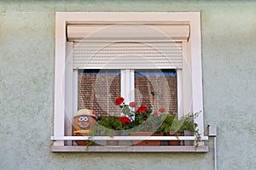
[[[67,40],[73,42],[124,39],[188,41],[189,34],[189,24],[67,25]]]

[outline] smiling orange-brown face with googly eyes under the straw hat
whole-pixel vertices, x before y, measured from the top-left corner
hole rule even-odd
[[[73,127],[74,130],[89,130],[94,127],[96,119],[93,116],[80,115],[74,117]]]

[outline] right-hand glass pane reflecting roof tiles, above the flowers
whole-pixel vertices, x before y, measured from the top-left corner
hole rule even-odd
[[[135,70],[135,100],[153,111],[177,113],[177,73],[172,69]]]

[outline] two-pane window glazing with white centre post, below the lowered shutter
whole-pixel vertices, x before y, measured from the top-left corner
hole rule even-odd
[[[128,80],[125,73],[128,72]],[[161,70],[79,70],[79,80],[73,82],[79,87],[78,110],[90,108],[99,115],[116,115],[119,107],[115,99],[128,94],[126,99],[146,105],[153,112],[160,107],[169,114],[177,113],[177,73],[172,69]],[[121,90],[129,81],[127,92]],[[124,92],[123,92],[124,91]],[[130,95],[129,95],[130,94]]]

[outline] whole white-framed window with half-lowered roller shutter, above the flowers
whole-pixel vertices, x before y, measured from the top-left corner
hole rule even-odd
[[[201,111],[207,139],[200,13],[56,13],[55,22],[54,147],[72,145],[73,113],[111,115],[118,96],[178,116]]]

